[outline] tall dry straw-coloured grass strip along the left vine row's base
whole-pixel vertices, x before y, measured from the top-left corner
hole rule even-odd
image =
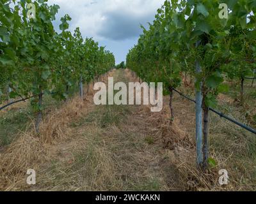
[[[92,89],[90,85],[86,100],[76,96],[60,109],[52,110],[40,125],[39,135],[35,128],[20,133],[17,140],[0,154],[0,190],[10,191],[24,186],[27,170],[39,170],[39,166],[49,159],[49,151],[54,145],[72,138],[69,124],[92,108]]]

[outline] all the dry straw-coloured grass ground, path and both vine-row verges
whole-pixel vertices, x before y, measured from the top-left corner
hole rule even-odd
[[[108,77],[134,82],[129,70]],[[107,78],[102,78],[107,82]],[[0,154],[4,191],[243,191],[255,189],[255,140],[252,135],[211,115],[211,157],[206,173],[195,165],[195,105],[175,96],[175,121],[169,98],[162,112],[149,106],[95,106],[93,90],[52,110],[40,135],[25,131]],[[220,96],[225,103],[229,97]],[[234,112],[234,117],[241,117]],[[228,146],[227,146],[228,144]],[[36,186],[26,171],[36,170]],[[218,171],[230,183],[220,187]]]

